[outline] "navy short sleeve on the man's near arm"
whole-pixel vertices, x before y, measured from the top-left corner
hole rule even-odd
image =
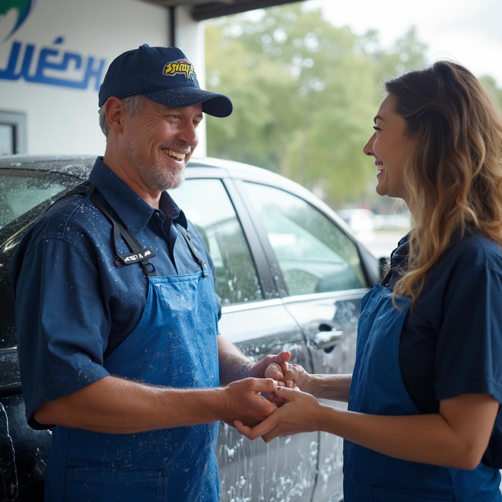
[[[109,332],[98,270],[60,238],[29,248],[15,280],[16,330],[26,417],[47,401],[78,391],[108,375],[103,346]]]

